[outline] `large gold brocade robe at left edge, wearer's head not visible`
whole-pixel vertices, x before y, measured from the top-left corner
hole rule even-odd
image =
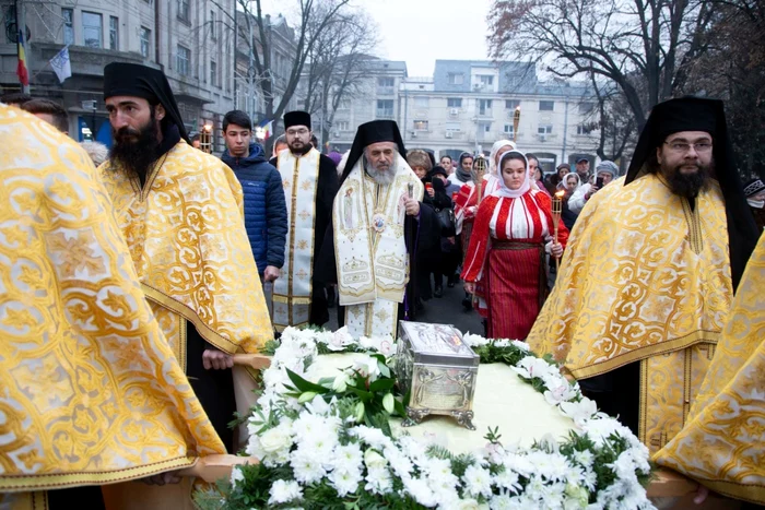
[[[0,137],[0,507],[224,453],[87,154],[3,105]]]

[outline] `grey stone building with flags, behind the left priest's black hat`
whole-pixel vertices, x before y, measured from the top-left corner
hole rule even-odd
[[[16,12],[27,27],[31,93],[61,103],[70,135],[110,144],[103,95],[104,67],[134,62],[162,69],[188,131],[213,127],[213,151],[223,150],[223,115],[234,107],[234,29],[226,16],[235,0],[0,0],[5,34],[0,85],[19,90]],[[48,61],[69,46],[72,76],[59,83]]]

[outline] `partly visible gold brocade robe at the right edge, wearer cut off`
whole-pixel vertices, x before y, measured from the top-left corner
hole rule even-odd
[[[717,493],[765,505],[765,236],[688,423],[654,460]]]

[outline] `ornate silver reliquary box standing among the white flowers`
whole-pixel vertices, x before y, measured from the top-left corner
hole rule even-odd
[[[452,325],[401,321],[396,376],[409,393],[408,419],[419,424],[428,414],[454,416],[474,430],[473,394],[479,356]]]

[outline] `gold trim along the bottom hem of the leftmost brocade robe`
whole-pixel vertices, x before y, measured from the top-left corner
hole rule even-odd
[[[76,485],[105,485],[129,482],[146,476],[164,473],[180,467],[190,467],[197,463],[197,458],[184,456],[156,462],[149,465],[127,467],[102,473],[61,473],[33,475],[3,475],[0,477],[0,490],[17,493],[27,490],[50,490]]]

